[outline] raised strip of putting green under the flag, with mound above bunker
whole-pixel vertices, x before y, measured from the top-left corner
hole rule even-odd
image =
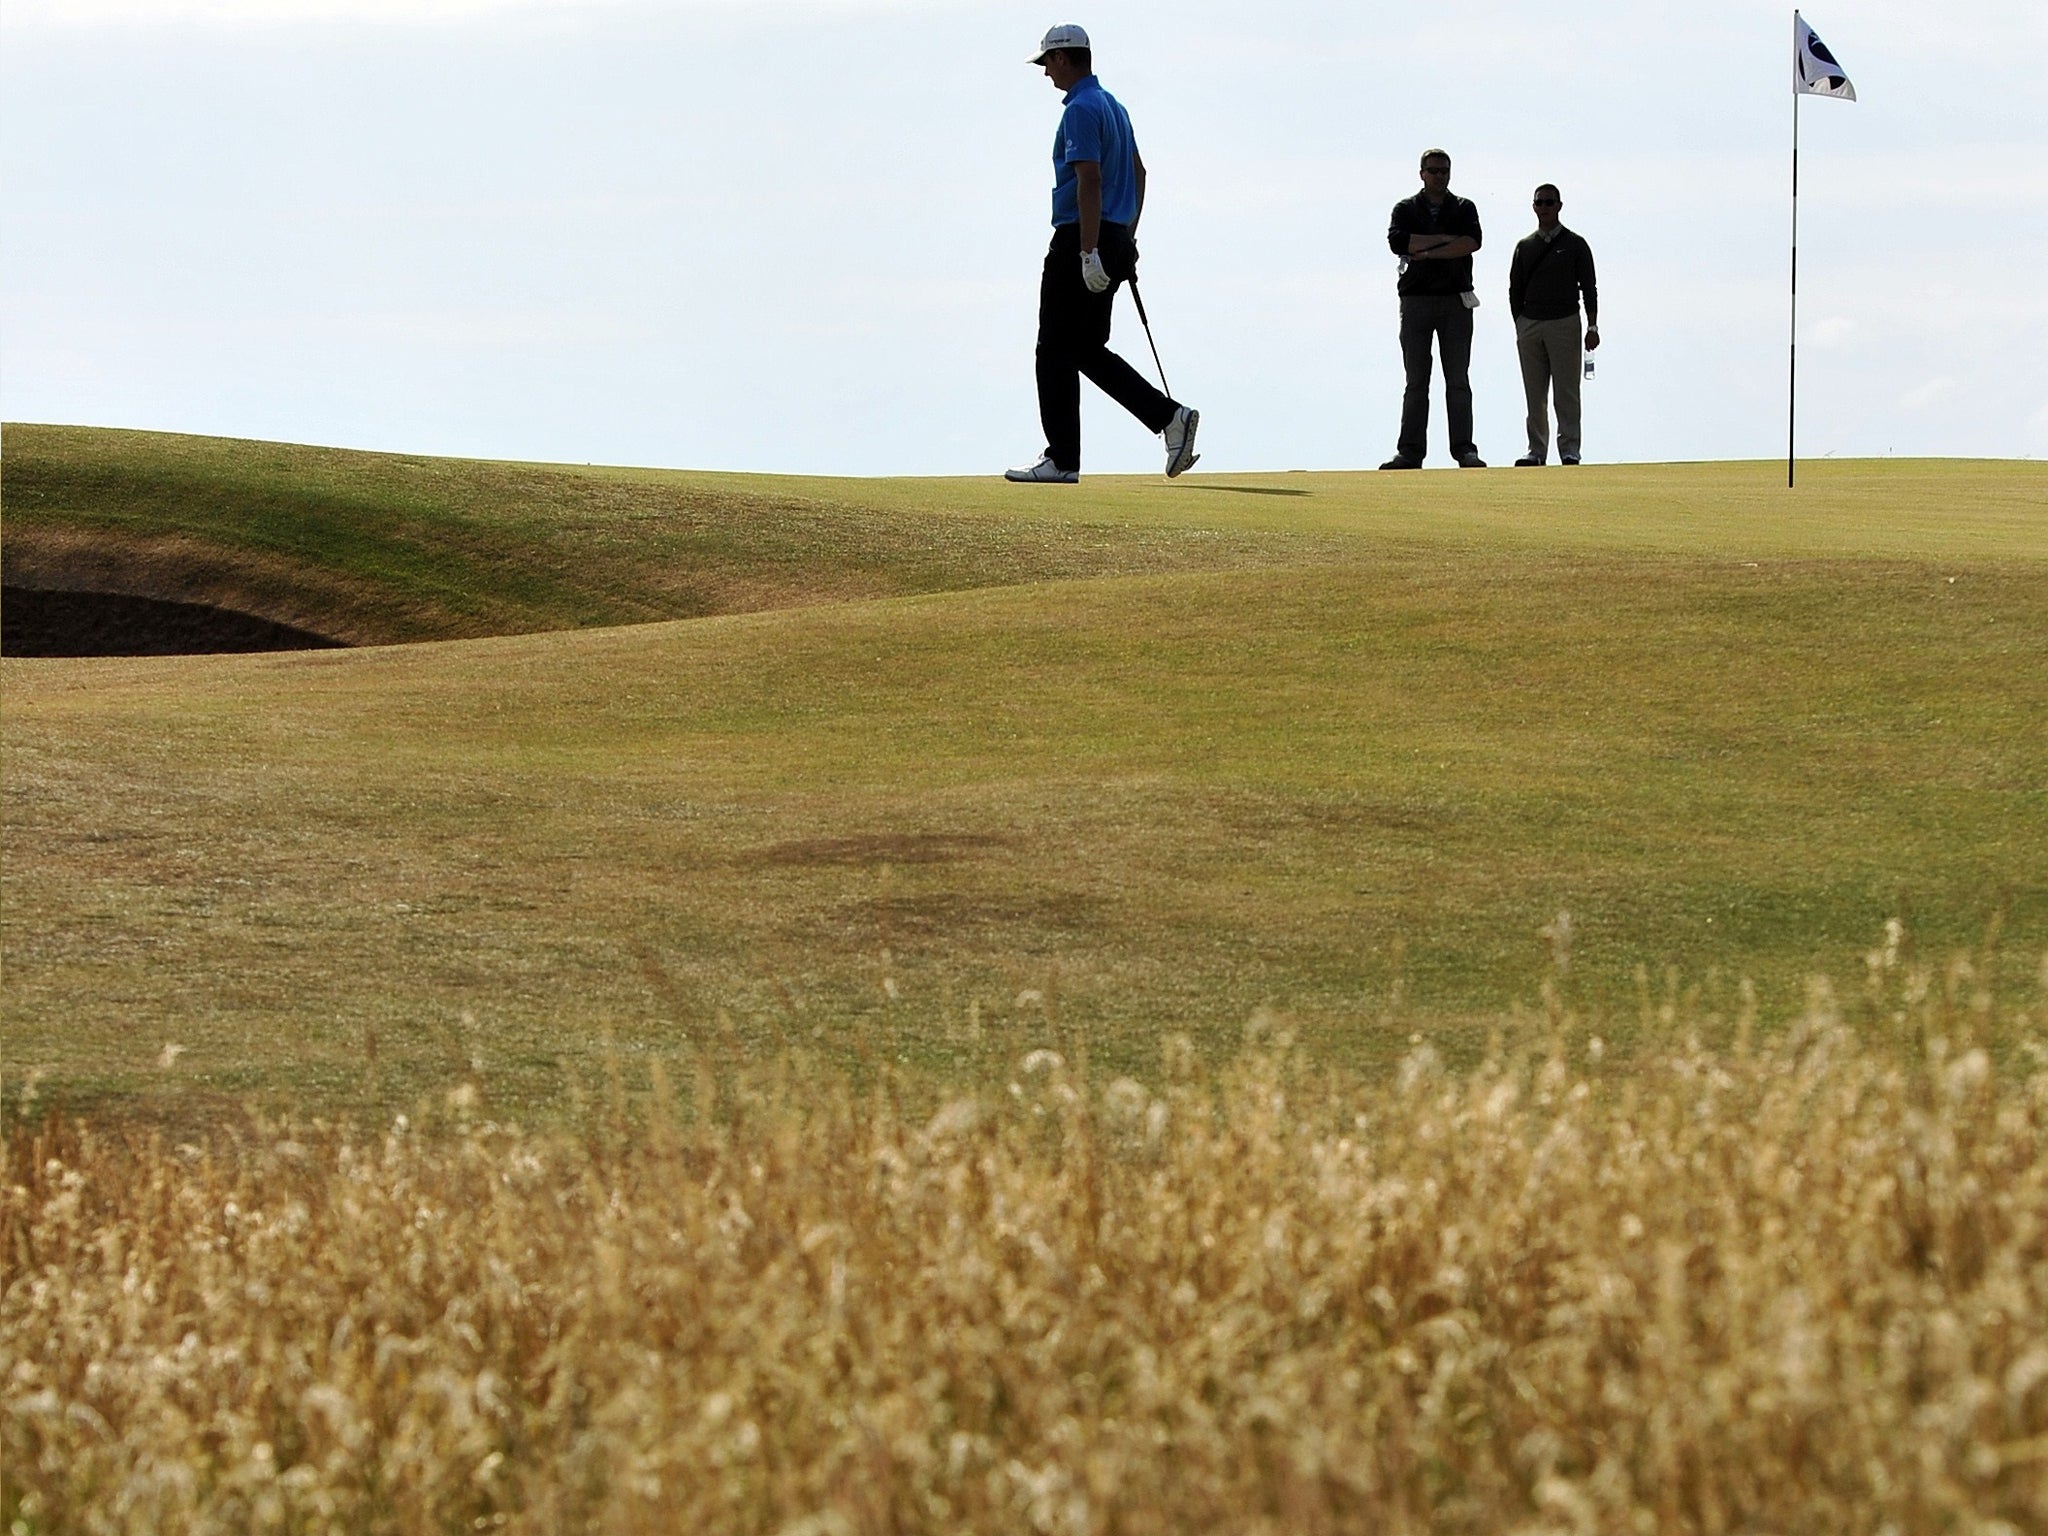
[[[696,618],[1395,549],[2038,561],[2023,463],[1493,475],[807,479],[6,428],[8,582],[213,602],[350,643]]]

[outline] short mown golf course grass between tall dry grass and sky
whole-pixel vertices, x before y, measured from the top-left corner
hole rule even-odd
[[[483,1061],[532,1112],[606,1040],[979,1077],[1266,1006],[1333,1063],[1468,1059],[1561,963],[1626,1049],[1673,991],[1784,1016],[1890,918],[2032,977],[2048,473],[1772,473],[1069,492],[8,428],[27,559],[150,547],[106,496],[143,483],[186,573],[240,537],[358,627],[526,633],[6,662],[6,1069],[350,1106]],[[459,612],[463,571],[520,575]],[[618,627],[684,575],[707,616]]]

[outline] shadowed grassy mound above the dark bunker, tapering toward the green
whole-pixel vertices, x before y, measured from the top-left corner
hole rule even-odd
[[[905,494],[909,489],[909,494]],[[1047,516],[1030,492],[698,475],[6,428],[10,584],[213,602],[371,645],[1018,582],[1212,569],[1214,526]],[[1282,543],[1298,543],[1286,541]]]

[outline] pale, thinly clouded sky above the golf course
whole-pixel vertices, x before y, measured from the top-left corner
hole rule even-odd
[[[0,414],[408,453],[993,473],[1030,350],[1055,20],[1151,170],[1206,469],[1393,451],[1386,211],[1479,201],[1479,446],[1522,446],[1530,188],[1599,258],[1589,459],[1786,442],[1772,0],[6,0]],[[2048,453],[2048,4],[1815,0],[1800,453]],[[1116,346],[1149,371],[1128,299]],[[1440,391],[1438,391],[1440,393]],[[1102,395],[1085,467],[1155,471]],[[1432,461],[1444,461],[1442,399]]]

